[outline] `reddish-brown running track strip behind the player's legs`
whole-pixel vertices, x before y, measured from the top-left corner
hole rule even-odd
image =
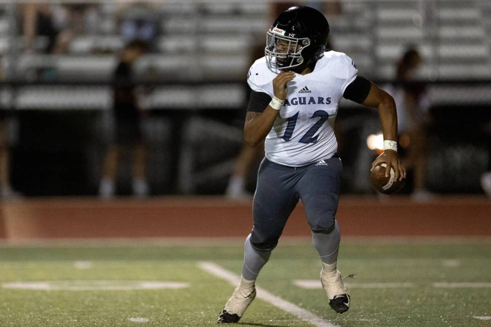
[[[394,196],[342,196],[336,218],[343,236],[491,236],[491,201],[438,197],[429,203]],[[0,203],[0,238],[243,237],[251,201],[222,197],[43,198]],[[310,236],[300,203],[284,230]]]

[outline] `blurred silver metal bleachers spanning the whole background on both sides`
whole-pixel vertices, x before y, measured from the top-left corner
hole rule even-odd
[[[422,79],[491,77],[489,2],[436,3],[436,8],[430,8],[419,1],[343,2],[340,14],[328,14],[333,48],[349,54],[359,70],[374,80],[393,78],[394,62],[408,44],[416,45],[423,55]],[[152,70],[160,80],[242,82],[250,64],[249,50],[269,25],[266,2],[169,2],[159,9],[163,33],[158,52],[146,56],[137,68],[140,76]],[[12,37],[6,11],[2,12],[0,53],[9,62],[6,54]],[[16,78],[29,80],[33,71],[49,67],[57,81],[109,81],[123,41],[115,22],[116,5],[104,3],[100,12],[100,33],[77,36],[69,54],[20,53]],[[22,48],[22,37],[17,40],[14,45]],[[97,54],[101,50],[112,54]]]

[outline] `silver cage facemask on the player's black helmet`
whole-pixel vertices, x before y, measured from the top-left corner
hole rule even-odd
[[[275,31],[276,30],[276,31]],[[286,70],[304,64],[302,51],[310,46],[309,38],[293,38],[271,29],[266,33],[266,63],[270,69]]]

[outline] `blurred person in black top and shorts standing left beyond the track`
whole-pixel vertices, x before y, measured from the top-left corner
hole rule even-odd
[[[146,181],[147,149],[141,131],[142,111],[139,108],[136,86],[132,81],[134,63],[145,53],[146,43],[132,41],[123,49],[114,73],[115,144],[109,146],[104,159],[103,177],[99,195],[111,198],[115,194],[115,180],[119,158],[124,149],[133,150],[132,177],[133,194],[145,197],[149,193]]]

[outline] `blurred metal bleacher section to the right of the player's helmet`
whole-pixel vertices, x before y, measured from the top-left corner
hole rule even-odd
[[[430,2],[394,0],[345,6],[340,19],[352,17],[348,21],[360,26],[337,26],[332,17],[333,43],[375,79],[393,78],[394,62],[409,44],[423,55],[422,79],[489,79],[489,2],[435,3],[436,8]],[[367,55],[371,60],[364,59]]]

